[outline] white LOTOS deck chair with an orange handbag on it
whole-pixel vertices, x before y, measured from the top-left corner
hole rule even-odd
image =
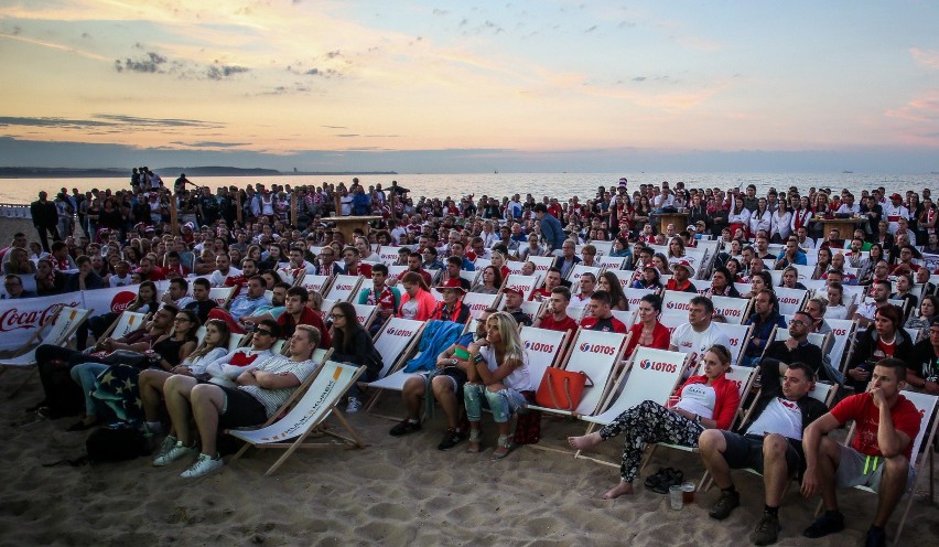
[[[590,377],[593,387],[584,389],[580,405],[573,411],[536,405],[529,407],[533,410],[563,416],[596,414],[612,388],[616,367],[623,360],[623,352],[626,351],[628,340],[628,334],[579,329],[568,351],[563,368],[575,373],[583,372]]]

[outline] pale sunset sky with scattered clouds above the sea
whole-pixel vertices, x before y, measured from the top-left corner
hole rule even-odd
[[[939,171],[932,1],[0,0],[0,165]]]

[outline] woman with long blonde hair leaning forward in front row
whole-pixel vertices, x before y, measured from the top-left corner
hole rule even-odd
[[[528,372],[528,352],[518,335],[518,323],[500,311],[486,319],[486,337],[467,347],[475,366],[466,371],[463,399],[470,420],[470,449],[479,452],[479,421],[483,400],[488,403],[499,430],[493,460],[501,460],[511,450],[509,419],[512,412],[525,409],[535,397],[535,385]]]

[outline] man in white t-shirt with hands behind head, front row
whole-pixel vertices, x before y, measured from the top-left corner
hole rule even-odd
[[[749,468],[763,473],[766,505],[749,538],[756,545],[770,545],[780,530],[779,505],[789,478],[805,469],[802,433],[828,407],[809,396],[816,376],[805,363],[787,366],[764,360],[760,375],[763,390],[749,421],[735,432],[705,429],[698,450],[721,489],[721,497],[709,512],[712,518],[723,521],[741,504],[731,480],[732,469]]]

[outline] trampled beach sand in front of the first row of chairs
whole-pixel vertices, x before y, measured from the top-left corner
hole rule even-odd
[[[715,490],[699,493],[681,511],[638,482],[636,495],[603,501],[600,495],[618,480],[617,468],[530,447],[492,462],[492,426],[483,454],[464,453],[465,443],[440,452],[440,418],[420,432],[392,438],[392,421],[364,412],[349,421],[366,449],[298,452],[270,478],[262,475],[278,455],[273,451],[251,451],[196,480],[179,476],[184,462],[158,469],[147,458],[45,468],[82,455],[88,432],[64,431],[74,418],[31,422],[23,409],[40,399],[35,378],[9,399],[11,386],[25,375],[10,371],[0,382],[3,546],[747,545],[763,508],[762,482],[748,473],[735,474],[743,505],[717,523],[706,514]],[[379,410],[398,414],[400,399],[382,397]],[[562,448],[568,435],[584,429],[583,422],[546,420],[541,443]],[[617,461],[618,449],[606,442],[601,453]],[[659,450],[645,473],[662,464],[680,468],[691,480],[703,472],[697,455]],[[904,538],[936,545],[939,519],[922,497],[914,503]],[[842,534],[809,540],[801,530],[816,502],[790,491],[778,545],[854,545],[873,503],[870,494],[844,494],[843,510],[857,519]]]

